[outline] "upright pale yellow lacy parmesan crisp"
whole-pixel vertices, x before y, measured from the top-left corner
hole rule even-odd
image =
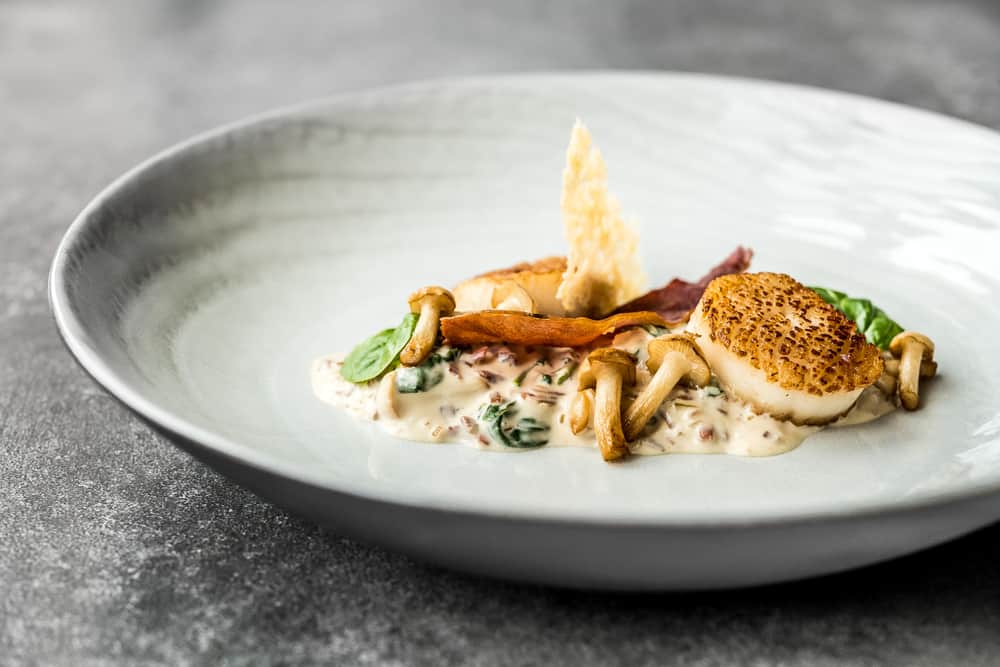
[[[622,219],[601,152],[579,120],[566,151],[561,206],[569,254],[556,297],[567,313],[600,317],[644,292],[639,235]]]

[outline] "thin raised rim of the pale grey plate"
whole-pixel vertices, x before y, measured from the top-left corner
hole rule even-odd
[[[370,95],[379,98],[402,96],[410,92],[427,92],[436,88],[451,88],[456,86],[485,85],[490,83],[531,83],[549,79],[585,79],[606,77],[615,79],[657,79],[697,80],[706,83],[717,83],[725,86],[748,86],[754,88],[775,88],[792,91],[798,94],[825,97],[827,99],[846,99],[853,104],[883,107],[896,112],[923,116],[937,122],[958,125],[965,131],[982,133],[993,141],[1000,140],[1000,132],[988,126],[971,122],[962,118],[913,107],[898,102],[884,100],[867,95],[841,91],[818,86],[804,85],[761,78],[737,77],[700,72],[675,72],[668,70],[548,70],[514,74],[487,74],[473,76],[432,78],[419,81],[396,83],[376,87],[361,87],[338,92],[333,95],[310,99],[303,102],[284,105],[263,112],[251,114],[238,120],[215,126],[203,132],[177,142],[152,156],[142,160],[134,167],[125,171],[105,186],[95,195],[70,223],[57,246],[48,274],[49,308],[56,324],[59,336],[77,364],[104,391],[108,392],[129,411],[141,420],[154,425],[156,430],[168,433],[170,438],[180,438],[192,446],[207,450],[210,454],[221,456],[253,469],[258,473],[278,475],[286,480],[307,484],[312,487],[347,494],[368,501],[390,503],[413,509],[436,510],[448,513],[460,513],[500,520],[525,520],[574,526],[619,526],[637,528],[678,528],[678,529],[719,529],[730,527],[746,528],[750,526],[782,526],[800,525],[820,521],[840,521],[848,519],[866,519],[879,515],[922,512],[931,509],[941,509],[942,506],[961,504],[982,500],[988,496],[1000,495],[1000,479],[986,479],[971,482],[958,488],[945,489],[914,497],[901,497],[894,500],[866,501],[849,504],[843,507],[812,508],[799,510],[767,510],[757,516],[745,518],[735,517],[695,517],[690,520],[672,517],[655,518],[648,516],[628,517],[600,514],[586,516],[566,514],[544,508],[508,509],[499,511],[483,505],[455,505],[453,501],[440,498],[413,499],[397,497],[393,493],[374,492],[363,485],[350,483],[347,480],[331,480],[321,475],[312,474],[309,469],[287,464],[280,459],[264,455],[252,447],[242,445],[237,441],[223,437],[209,429],[202,428],[173,411],[161,407],[155,401],[147,399],[141,392],[134,389],[112,365],[102,359],[101,355],[87,344],[86,327],[76,317],[68,286],[72,250],[79,240],[85,236],[94,214],[117,196],[138,176],[150,169],[165,165],[198,147],[217,141],[227,135],[248,130],[264,128],[270,123],[280,122],[298,115],[324,109],[333,109],[341,105],[349,105],[359,96]],[[177,443],[172,443],[177,446]],[[455,445],[459,446],[459,445]],[[183,448],[182,449],[186,449]],[[530,456],[530,453],[528,454]]]

